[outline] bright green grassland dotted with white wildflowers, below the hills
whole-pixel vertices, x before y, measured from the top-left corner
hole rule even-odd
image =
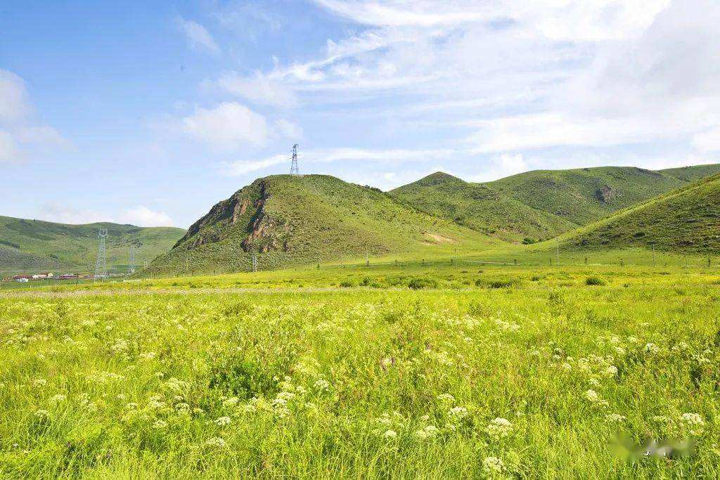
[[[390,261],[1,294],[0,476],[716,478],[719,282]]]

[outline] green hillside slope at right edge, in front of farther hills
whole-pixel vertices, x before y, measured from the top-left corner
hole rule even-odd
[[[571,248],[720,253],[720,174],[616,212],[560,241]]]

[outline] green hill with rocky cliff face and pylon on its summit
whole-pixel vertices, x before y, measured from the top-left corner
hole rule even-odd
[[[243,271],[365,255],[447,255],[489,237],[378,189],[324,175],[269,176],[220,201],[146,275]]]

